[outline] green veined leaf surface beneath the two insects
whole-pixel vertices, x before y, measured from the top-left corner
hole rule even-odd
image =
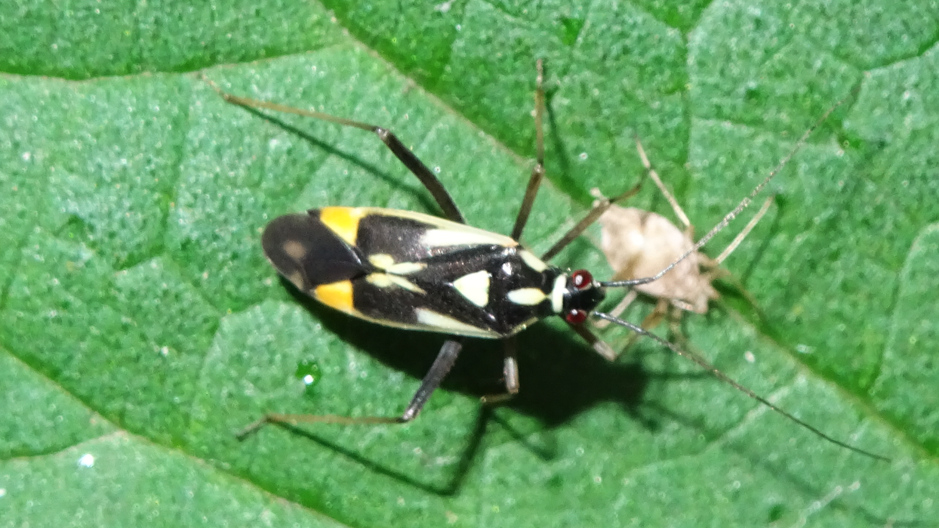
[[[0,526],[933,523],[939,11],[664,4],[0,7]],[[373,135],[246,111],[200,76],[392,129],[471,224],[505,233],[537,57],[549,182],[523,239],[539,251],[593,187],[639,179],[634,134],[703,233],[860,86],[725,262],[754,303],[730,296],[682,331],[892,462],[648,340],[609,365],[556,322],[521,335],[505,407],[478,400],[499,390],[500,347],[471,340],[411,425],[235,440],[264,412],[399,413],[441,342],[291,296],[260,251],[269,219],[437,209]],[[652,186],[633,205],[670,215]],[[608,275],[596,240],[556,263]]]

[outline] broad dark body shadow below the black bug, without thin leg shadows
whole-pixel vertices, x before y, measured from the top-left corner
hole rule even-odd
[[[291,283],[282,283],[329,331],[418,380],[446,338],[444,334],[385,328],[351,318],[316,303]],[[502,353],[499,341],[466,339],[456,365],[440,387],[469,396],[502,392]],[[562,425],[604,401],[618,402],[624,409],[637,407],[649,382],[649,375],[638,364],[611,364],[577,334],[544,324],[518,335],[518,369],[521,391],[502,406],[535,417],[546,427]],[[402,401],[401,410],[407,405]]]

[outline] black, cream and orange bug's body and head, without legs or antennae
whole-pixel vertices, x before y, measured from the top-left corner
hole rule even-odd
[[[378,324],[501,339],[603,300],[585,273],[509,237],[408,210],[328,207],[274,219],[264,254],[300,291]]]

